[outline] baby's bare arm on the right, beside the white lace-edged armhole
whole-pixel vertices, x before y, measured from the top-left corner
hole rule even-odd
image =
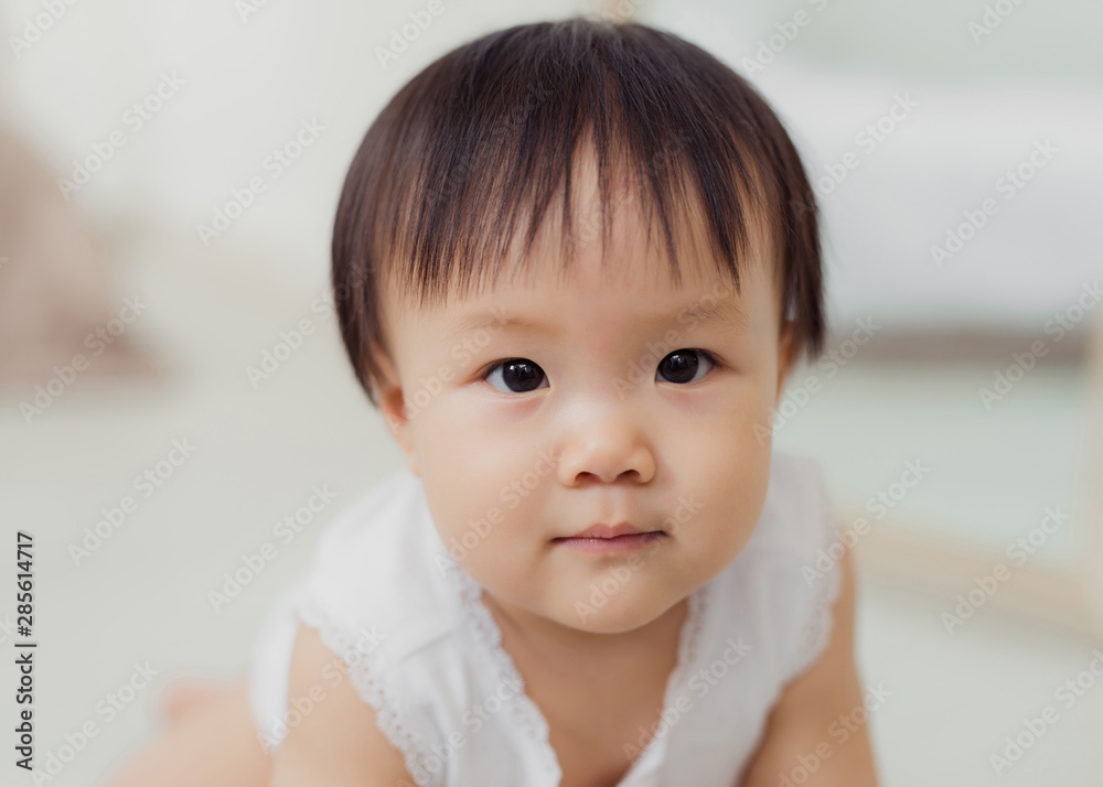
[[[765,732],[741,787],[775,787],[790,783],[804,787],[877,787],[877,773],[866,725],[847,730],[839,742],[828,726],[861,707],[861,688],[854,665],[854,565],[849,552],[839,561],[843,572],[838,601],[832,611],[831,643],[820,659],[785,687],[774,705]],[[818,753],[817,753],[818,747]],[[797,759],[801,757],[802,762]],[[815,772],[796,781],[794,768]],[[802,775],[803,775],[802,773]]]

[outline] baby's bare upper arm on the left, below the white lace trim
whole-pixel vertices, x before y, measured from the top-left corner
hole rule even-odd
[[[288,698],[301,699],[300,707],[310,701],[313,708],[289,725],[276,754],[271,787],[414,784],[401,753],[376,726],[375,711],[356,693],[345,664],[307,626],[296,637]]]

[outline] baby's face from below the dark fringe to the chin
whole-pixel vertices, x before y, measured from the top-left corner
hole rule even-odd
[[[464,570],[517,612],[602,633],[650,623],[742,549],[788,373],[764,245],[739,293],[710,261],[675,287],[625,213],[604,278],[591,233],[566,283],[537,258],[527,282],[385,317],[381,389]],[[651,535],[568,538],[622,522]]]

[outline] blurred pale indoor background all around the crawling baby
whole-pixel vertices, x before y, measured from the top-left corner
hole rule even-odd
[[[441,3],[422,28],[422,0],[0,0],[0,514],[35,539],[50,783],[99,784],[172,677],[238,673],[325,525],[401,466],[326,305],[375,115],[460,43],[592,13],[715,53],[805,157],[832,338],[774,440],[853,533],[882,784],[1101,784],[1103,4]]]

